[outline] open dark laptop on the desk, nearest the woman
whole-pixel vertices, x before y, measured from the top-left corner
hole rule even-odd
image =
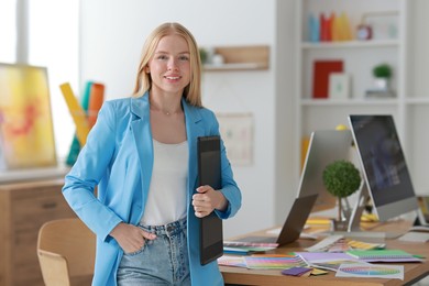
[[[285,223],[282,227],[278,237],[246,237],[240,239],[241,242],[253,243],[277,243],[284,245],[296,241],[306,224],[307,218],[311,212],[318,195],[310,195],[306,197],[296,198],[287,216]]]

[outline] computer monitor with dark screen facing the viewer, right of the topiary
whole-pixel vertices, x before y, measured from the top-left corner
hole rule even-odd
[[[378,219],[418,208],[411,178],[392,116],[349,116],[366,187]]]

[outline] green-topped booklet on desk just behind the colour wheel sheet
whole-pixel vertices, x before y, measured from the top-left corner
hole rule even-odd
[[[421,262],[420,258],[403,250],[351,250],[345,253],[366,262]]]

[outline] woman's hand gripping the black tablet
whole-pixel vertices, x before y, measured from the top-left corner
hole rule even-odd
[[[222,193],[215,190],[210,186],[200,186],[197,188],[197,191],[198,194],[193,196],[193,206],[197,218],[204,218],[215,209],[220,211],[227,209],[228,200]]]

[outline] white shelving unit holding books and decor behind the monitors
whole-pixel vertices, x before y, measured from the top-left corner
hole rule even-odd
[[[402,145],[418,195],[429,194],[426,178],[429,162],[429,35],[424,31],[428,20],[429,1],[424,0],[302,0],[297,7],[297,88],[296,88],[296,146],[318,129],[334,129],[349,125],[351,113],[393,114]],[[371,15],[378,29],[374,38],[346,42],[309,41],[309,15],[320,13],[336,15],[345,12],[355,33],[362,18]],[[387,19],[385,15],[389,14]],[[386,32],[383,25],[394,31]],[[377,26],[378,25],[378,26]],[[312,65],[317,59],[341,59],[343,70],[351,78],[351,89],[345,99],[314,99]],[[396,96],[367,98],[365,90],[373,86],[372,68],[381,63],[393,67],[392,87]],[[426,76],[425,76],[426,75]],[[298,153],[300,154],[300,153]],[[296,165],[300,157],[296,155]]]

